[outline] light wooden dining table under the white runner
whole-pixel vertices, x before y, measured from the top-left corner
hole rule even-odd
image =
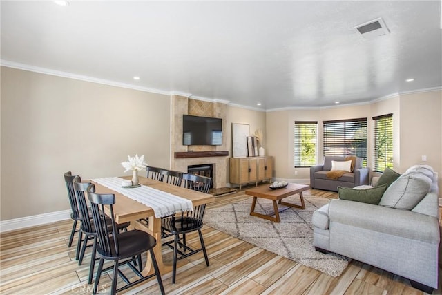
[[[121,176],[120,178],[131,180],[132,176]],[[193,191],[192,189],[186,189],[184,187],[177,187],[172,184],[168,184],[166,182],[160,182],[157,180],[152,180],[150,178],[145,178],[140,176],[140,184],[146,185],[148,187],[152,187],[153,189],[158,189],[160,191],[165,191],[166,193],[171,193],[175,196],[179,196],[181,198],[185,198],[187,200],[191,200],[193,207],[198,206],[200,204],[207,204],[213,202],[215,198],[212,195],[207,193],[201,193],[200,191]],[[135,229],[140,229],[142,231],[148,232],[155,237],[157,240],[157,245],[154,247],[153,251],[155,253],[155,258],[157,260],[158,268],[162,274],[166,274],[167,272],[171,272],[172,265],[164,264],[162,258],[162,241],[161,241],[161,218],[155,218],[155,212],[151,207],[148,207],[145,204],[137,202],[127,196],[124,196],[122,193],[118,193],[117,191],[113,191],[112,189],[108,189],[107,187],[102,186],[96,182],[95,191],[97,193],[113,193],[115,195],[115,204],[113,205],[113,213],[115,216],[115,221],[117,223],[122,222],[131,222],[131,227]],[[106,214],[110,214],[111,212],[106,212]],[[141,222],[140,219],[148,218],[148,225],[144,222]],[[153,267],[151,263],[151,256],[147,255],[147,263],[144,266],[142,271],[143,276],[153,273]]]

